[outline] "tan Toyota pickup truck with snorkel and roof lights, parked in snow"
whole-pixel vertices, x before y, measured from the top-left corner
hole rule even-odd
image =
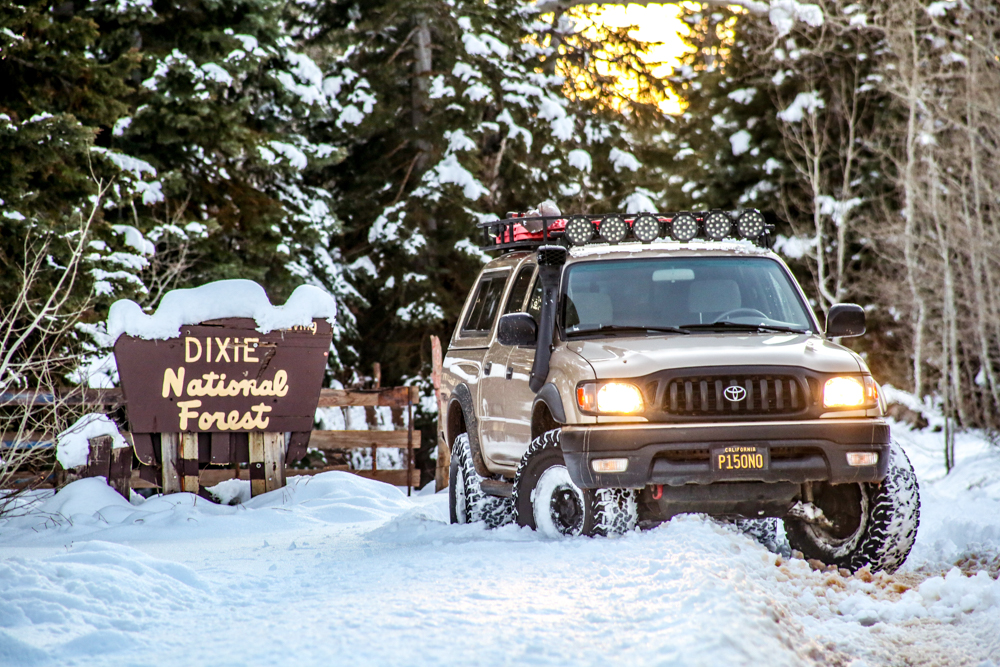
[[[839,567],[905,560],[916,479],[867,365],[835,342],[864,310],[821,327],[762,214],[483,227],[499,256],[444,360],[453,522],[610,535],[700,512],[782,519],[793,549]]]

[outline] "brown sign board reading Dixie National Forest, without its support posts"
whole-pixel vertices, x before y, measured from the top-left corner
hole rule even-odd
[[[325,319],[262,334],[252,319],[123,335],[115,362],[133,432],[310,431],[333,332]]]

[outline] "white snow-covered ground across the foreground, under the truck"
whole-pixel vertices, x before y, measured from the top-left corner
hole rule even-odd
[[[695,516],[557,542],[346,473],[235,507],[83,480],[0,520],[0,665],[1000,664],[1000,449],[944,477],[893,432],[923,520],[874,579]]]

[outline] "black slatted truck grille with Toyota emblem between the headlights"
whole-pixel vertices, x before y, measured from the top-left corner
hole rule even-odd
[[[684,416],[788,415],[806,409],[807,396],[791,375],[682,377],[668,381],[663,409]]]

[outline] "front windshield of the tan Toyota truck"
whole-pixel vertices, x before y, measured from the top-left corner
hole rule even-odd
[[[806,331],[814,326],[787,273],[766,257],[572,264],[563,278],[560,316],[568,336],[642,329],[664,335],[677,328],[686,329],[677,333],[758,327]]]

